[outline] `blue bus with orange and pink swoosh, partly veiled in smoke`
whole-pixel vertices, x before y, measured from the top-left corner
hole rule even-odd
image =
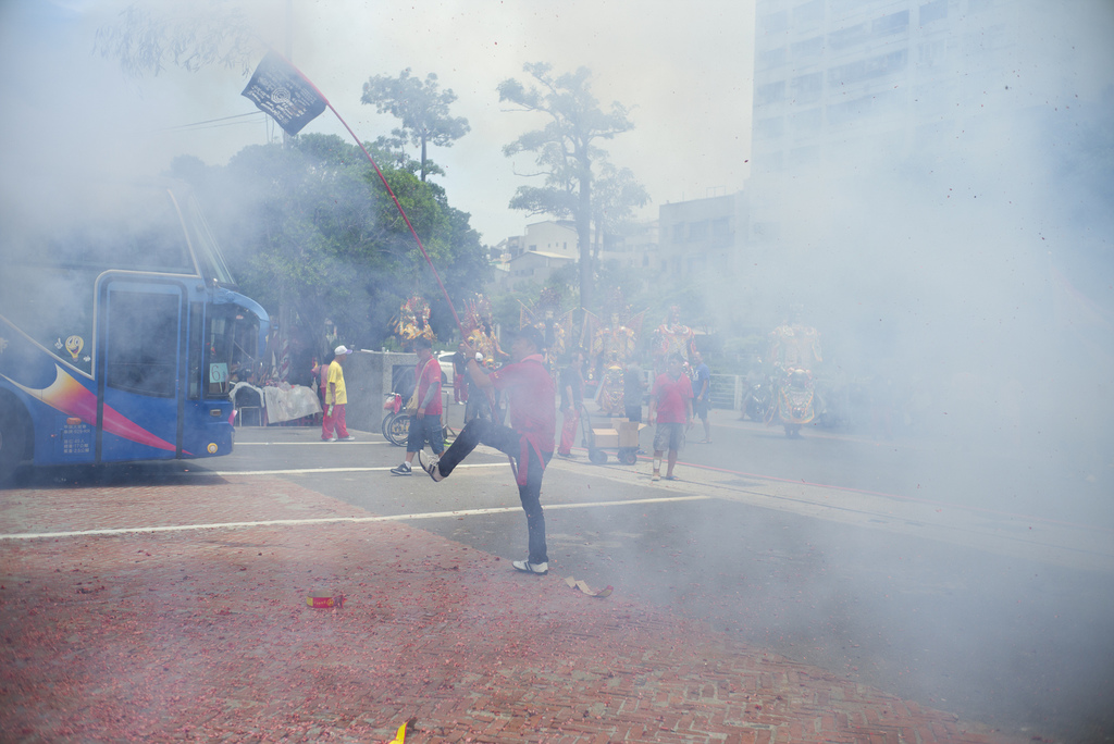
[[[80,209],[56,205],[65,218],[10,206],[0,231],[0,482],[23,462],[231,452],[228,392],[258,369],[268,319],[236,292],[188,188],[89,189]]]

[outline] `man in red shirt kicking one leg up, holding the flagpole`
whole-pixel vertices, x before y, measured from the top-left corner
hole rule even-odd
[[[468,356],[468,373],[472,382],[485,392],[494,388],[507,393],[510,427],[482,417],[475,418],[465,424],[440,460],[427,463],[419,452],[418,461],[430,478],[440,481],[448,478],[477,444],[487,444],[509,454],[516,464],[518,498],[526,512],[529,538],[526,560],[515,560],[511,565],[528,574],[547,574],[549,557],[546,555],[546,520],[541,512],[541,476],[554,456],[557,405],[554,381],[541,353],[545,340],[536,327],[519,330],[510,343],[511,363],[490,374],[477,361],[476,349],[467,342],[462,347]]]

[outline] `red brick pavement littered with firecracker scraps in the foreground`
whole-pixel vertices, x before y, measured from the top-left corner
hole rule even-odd
[[[0,533],[367,516],[271,478],[0,491]],[[3,540],[3,737],[1010,741],[563,579],[391,521]]]

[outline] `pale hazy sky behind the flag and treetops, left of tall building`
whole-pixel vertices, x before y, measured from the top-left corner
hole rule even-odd
[[[175,129],[255,110],[240,94],[241,70],[168,69],[125,79],[119,65],[92,53],[94,33],[129,3],[118,0],[0,2],[0,82],[7,115],[9,174],[102,168],[154,174],[177,155],[224,164],[241,148],[266,141],[262,115],[221,126]],[[139,2],[144,7],[170,3]],[[528,183],[532,159],[512,161],[501,148],[544,118],[500,107],[496,87],[526,80],[522,65],[550,62],[555,72],[585,66],[606,108],[633,109],[635,130],[607,144],[612,161],[629,167],[657,205],[730,193],[749,175],[753,0],[294,2],[293,58],[362,139],[388,134],[397,120],[360,102],[373,75],[434,72],[459,97],[455,116],[471,133],[431,156],[447,169],[450,203],[472,214],[486,243],[520,234],[526,215],[507,203]],[[203,0],[180,12],[240,7],[262,43],[286,48],[282,0]],[[189,9],[187,11],[187,9]],[[683,28],[683,30],[682,30]],[[305,130],[342,135],[325,111]],[[4,188],[11,188],[11,180]]]

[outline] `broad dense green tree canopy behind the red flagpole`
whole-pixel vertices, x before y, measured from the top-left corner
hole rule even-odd
[[[490,274],[469,215],[413,173],[380,167],[461,306]],[[268,310],[293,306],[313,329],[331,319],[345,342],[377,347],[402,302],[421,294],[438,336],[456,332],[410,229],[358,147],[300,135],[289,147],[245,147],[204,172],[196,158],[179,158],[174,172],[197,189],[245,294]]]

